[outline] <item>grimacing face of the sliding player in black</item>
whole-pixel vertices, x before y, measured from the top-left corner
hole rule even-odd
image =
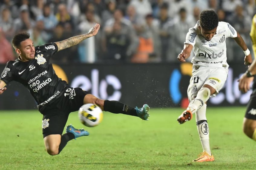
[[[33,41],[31,39],[21,41],[16,52],[20,55],[22,61],[33,60],[35,58],[35,47]]]

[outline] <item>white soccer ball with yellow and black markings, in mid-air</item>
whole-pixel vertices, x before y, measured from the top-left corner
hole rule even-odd
[[[103,113],[99,106],[94,104],[85,104],[80,107],[78,117],[85,126],[94,127],[102,121]]]

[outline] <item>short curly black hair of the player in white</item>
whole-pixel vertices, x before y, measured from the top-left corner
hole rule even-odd
[[[205,30],[213,30],[218,26],[218,15],[213,10],[204,10],[199,15],[200,27]]]

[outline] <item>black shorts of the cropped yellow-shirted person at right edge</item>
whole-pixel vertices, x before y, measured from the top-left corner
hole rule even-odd
[[[245,118],[256,120],[256,90],[251,93],[250,100],[245,112]]]

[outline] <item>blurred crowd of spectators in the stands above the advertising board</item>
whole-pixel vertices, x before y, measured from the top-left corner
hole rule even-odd
[[[16,33],[29,32],[38,46],[88,33],[95,23],[101,25],[95,37],[61,50],[52,62],[177,62],[186,33],[205,9],[235,27],[251,49],[254,0],[0,0],[0,63],[16,57]],[[228,61],[243,61],[234,40],[227,39],[227,49]]]

